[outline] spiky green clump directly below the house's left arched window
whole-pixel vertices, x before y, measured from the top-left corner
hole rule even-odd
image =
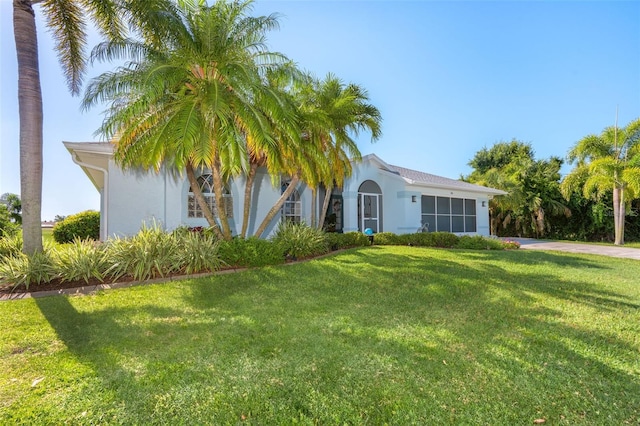
[[[173,234],[179,247],[180,270],[187,274],[220,269],[220,242],[213,235],[186,232]]]

